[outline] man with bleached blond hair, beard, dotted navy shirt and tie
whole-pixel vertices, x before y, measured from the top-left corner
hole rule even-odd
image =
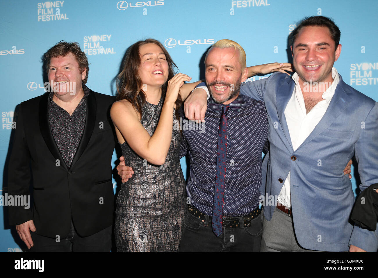
[[[179,251],[257,252],[261,152],[268,138],[265,106],[239,94],[252,67],[246,68],[238,43],[224,39],[212,45],[205,68],[211,94],[205,132],[184,129],[181,143],[180,157],[189,151],[190,177]]]

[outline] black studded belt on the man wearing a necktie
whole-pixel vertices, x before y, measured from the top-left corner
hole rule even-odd
[[[197,208],[193,207],[192,205],[188,205],[188,211],[190,214],[194,215],[195,217],[198,217],[202,220],[202,222],[205,222],[205,216],[206,214],[201,213],[201,211],[197,210]],[[260,208],[257,207],[253,211],[251,211],[247,216],[243,217],[243,225],[244,227],[251,227],[251,221],[253,218],[257,217],[260,214]],[[211,220],[211,216],[209,216],[209,220]],[[239,216],[223,216],[222,217],[222,227],[223,228],[237,228],[240,227],[240,217]]]

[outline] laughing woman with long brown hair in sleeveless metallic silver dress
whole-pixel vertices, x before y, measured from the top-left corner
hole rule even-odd
[[[125,163],[135,173],[122,183],[117,197],[118,252],[169,252],[179,247],[185,180],[179,160],[181,133],[173,121],[199,82],[184,84],[191,78],[174,75],[174,67],[163,45],[147,39],[127,50],[117,78],[119,100],[110,115]]]

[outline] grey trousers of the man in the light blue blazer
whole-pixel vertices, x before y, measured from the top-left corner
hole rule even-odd
[[[295,237],[293,219],[275,208],[273,217],[262,223],[260,252],[322,252],[302,248]]]

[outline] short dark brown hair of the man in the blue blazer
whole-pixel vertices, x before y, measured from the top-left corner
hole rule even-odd
[[[340,29],[339,27],[333,22],[332,19],[325,17],[325,16],[310,16],[305,17],[304,19],[299,22],[297,28],[294,29],[293,32],[290,34],[290,45],[293,45],[294,40],[297,38],[299,31],[305,26],[321,26],[327,27],[330,31],[331,37],[335,42],[335,50],[339,45],[340,42]],[[293,47],[294,48],[294,47]]]

